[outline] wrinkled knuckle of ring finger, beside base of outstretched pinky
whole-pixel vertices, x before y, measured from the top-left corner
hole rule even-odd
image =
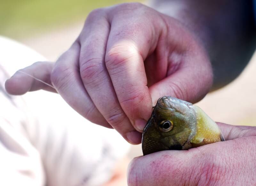
[[[68,81],[72,76],[72,70],[67,66],[54,67],[51,74],[52,84],[56,89],[63,89],[68,85]]]

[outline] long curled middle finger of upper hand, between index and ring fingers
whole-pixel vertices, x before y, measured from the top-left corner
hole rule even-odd
[[[130,143],[139,144],[141,134],[136,132],[122,110],[105,66],[109,29],[104,10],[94,10],[87,17],[79,36],[80,75],[93,103],[108,123]]]

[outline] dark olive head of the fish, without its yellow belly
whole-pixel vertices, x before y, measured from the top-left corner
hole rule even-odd
[[[196,135],[196,114],[191,105],[170,96],[158,99],[142,133],[144,155],[187,149],[188,142]]]

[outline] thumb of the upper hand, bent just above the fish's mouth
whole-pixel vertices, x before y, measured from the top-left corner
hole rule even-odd
[[[194,44],[191,48],[179,55],[170,54],[166,77],[149,87],[153,104],[163,96],[196,103],[209,92],[213,81],[211,63],[200,46]]]

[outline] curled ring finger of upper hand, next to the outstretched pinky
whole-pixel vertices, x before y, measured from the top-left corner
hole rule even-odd
[[[112,128],[84,89],[79,73],[80,44],[76,41],[56,61],[51,81],[61,97],[79,114],[93,123]]]

